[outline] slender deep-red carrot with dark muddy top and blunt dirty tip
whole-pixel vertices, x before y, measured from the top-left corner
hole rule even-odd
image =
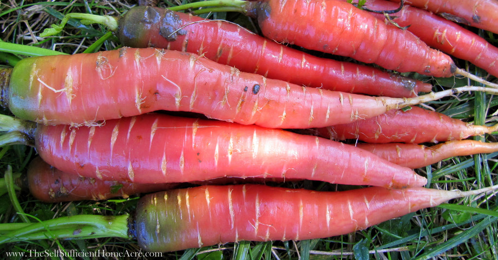
[[[191,52],[244,72],[306,87],[393,97],[414,96],[432,88],[373,67],[318,58],[227,21],[136,6],[118,22],[117,36],[124,46]]]

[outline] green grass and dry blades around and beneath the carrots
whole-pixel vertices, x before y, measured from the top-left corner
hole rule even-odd
[[[161,6],[178,5],[184,2],[160,2]],[[43,29],[58,23],[69,12],[91,12],[95,14],[120,15],[129,9],[133,1],[2,1],[0,3],[1,40],[6,43],[39,47],[66,54],[110,50],[120,46],[106,29],[99,25],[82,25],[70,20],[69,25],[56,37],[40,38]],[[251,21],[233,13],[214,13],[210,17],[229,19],[251,27]],[[475,30],[491,43],[497,44],[495,35]],[[35,55],[30,50],[15,52],[1,49],[2,66],[10,67],[23,57]],[[36,53],[36,49],[34,50]],[[12,54],[14,53],[14,55]],[[460,68],[481,77],[487,73],[465,61],[457,61]],[[466,79],[433,79],[421,75],[409,76],[430,81],[436,89],[475,85]],[[495,80],[489,77],[490,80]],[[462,93],[429,104],[436,111],[475,124],[497,123],[498,98],[483,93]],[[8,111],[1,113],[9,114]],[[478,140],[496,142],[496,135],[476,137]],[[0,176],[10,166],[13,173],[24,173],[30,160],[36,155],[30,147],[22,145],[0,148]],[[476,189],[498,182],[498,153],[455,157],[416,171],[430,180],[429,187],[439,189]],[[340,185],[314,181],[274,184],[317,190],[345,189]],[[15,201],[18,207],[14,207]],[[43,203],[26,191],[16,191],[13,198],[1,196],[0,223],[25,223],[49,220],[57,217],[95,214],[118,216],[132,213],[136,197],[108,201],[79,201],[65,203]],[[10,202],[8,202],[10,201]],[[483,211],[484,209],[484,211]],[[498,259],[496,212],[497,197],[462,198],[451,204],[420,210],[415,213],[386,221],[366,230],[326,239],[289,242],[240,242],[202,249],[190,249],[165,253],[166,259]],[[489,211],[486,211],[489,210]],[[24,212],[23,214],[18,214]],[[494,212],[494,213],[492,213]],[[494,215],[493,215],[494,214]],[[20,224],[19,224],[20,225]],[[0,231],[1,232],[1,231]],[[141,252],[133,240],[127,238],[97,238],[85,240],[36,240],[0,245],[0,258],[7,252],[24,253],[24,257],[10,259],[61,259],[57,252],[66,252],[64,259],[115,259],[113,253],[125,254],[123,259],[137,259],[132,254]],[[50,255],[35,255],[35,252],[52,252]],[[75,252],[101,253],[101,257],[78,257]],[[143,252],[142,252],[143,253]],[[73,255],[71,255],[73,254]],[[108,255],[106,255],[108,254]],[[127,254],[127,255],[126,255]],[[143,256],[139,259],[155,259]]]

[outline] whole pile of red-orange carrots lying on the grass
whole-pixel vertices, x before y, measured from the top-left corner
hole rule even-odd
[[[493,134],[498,124],[417,106],[465,91],[496,94],[494,78],[481,81],[487,87],[431,92],[432,85],[400,74],[479,80],[453,56],[498,76],[497,47],[434,14],[440,6],[222,1],[253,17],[263,36],[175,11],[216,8],[197,3],[136,6],[122,17],[70,14],[104,24],[125,47],[25,58],[0,69],[0,102],[14,115],[0,116],[0,144],[29,145],[39,155],[16,184],[46,202],[157,192],[139,200],[127,233],[151,252],[331,237],[498,188],[424,188],[427,179],[415,171],[498,152],[497,143],[467,139]],[[476,15],[471,25],[485,22]],[[42,35],[59,33],[67,18]],[[304,131],[311,134],[296,133]],[[374,187],[318,192],[262,184],[304,179]]]

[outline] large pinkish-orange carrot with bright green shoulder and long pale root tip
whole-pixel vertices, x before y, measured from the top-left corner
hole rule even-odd
[[[26,120],[73,126],[171,110],[269,128],[325,127],[460,91],[498,92],[460,87],[412,98],[373,97],[306,88],[153,48],[33,57],[2,72],[10,76],[0,86],[3,107]]]

